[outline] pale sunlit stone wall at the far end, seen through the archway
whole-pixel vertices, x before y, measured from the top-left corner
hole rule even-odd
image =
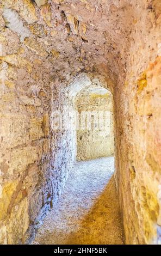
[[[114,153],[112,94],[103,88],[84,89],[77,95],[76,106],[79,113],[77,160],[112,155]]]

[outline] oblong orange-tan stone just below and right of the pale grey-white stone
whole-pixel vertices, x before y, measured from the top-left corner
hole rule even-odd
[[[47,57],[48,53],[45,48],[40,45],[34,38],[29,37],[24,39],[24,44],[33,52],[40,55],[41,57]]]

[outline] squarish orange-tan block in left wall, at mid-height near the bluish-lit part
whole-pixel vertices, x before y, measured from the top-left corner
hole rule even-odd
[[[32,141],[44,136],[44,132],[42,131],[42,118],[30,119],[29,136]]]

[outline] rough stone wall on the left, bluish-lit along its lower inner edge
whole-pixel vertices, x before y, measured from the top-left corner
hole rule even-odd
[[[49,41],[50,6],[2,2],[0,243],[15,244],[32,239],[56,202],[70,169],[70,138],[51,129],[60,83],[52,77],[58,52]]]

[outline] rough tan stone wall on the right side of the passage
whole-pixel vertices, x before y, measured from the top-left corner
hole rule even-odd
[[[126,243],[160,243],[161,3],[137,4],[126,78],[115,88],[116,170]]]

